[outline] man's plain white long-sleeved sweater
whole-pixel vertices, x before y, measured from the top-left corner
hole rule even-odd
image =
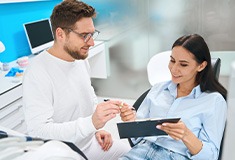
[[[96,104],[87,60],[67,62],[44,51],[30,61],[23,79],[29,135],[84,149],[96,131],[91,119]]]

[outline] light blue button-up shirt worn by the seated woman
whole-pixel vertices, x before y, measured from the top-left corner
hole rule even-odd
[[[185,125],[203,142],[197,155],[191,155],[184,143],[170,136],[144,139],[188,156],[190,159],[217,159],[227,115],[227,103],[218,92],[202,92],[193,88],[185,97],[177,97],[177,85],[172,81],[156,84],[137,111],[137,118],[180,117]]]

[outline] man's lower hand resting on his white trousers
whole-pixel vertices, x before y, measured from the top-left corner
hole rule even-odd
[[[108,151],[113,145],[111,134],[104,130],[97,131],[95,137],[104,151]]]

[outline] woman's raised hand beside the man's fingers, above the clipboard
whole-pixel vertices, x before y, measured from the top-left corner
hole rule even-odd
[[[123,121],[134,121],[136,119],[136,110],[128,104],[123,103],[120,111],[120,116]]]

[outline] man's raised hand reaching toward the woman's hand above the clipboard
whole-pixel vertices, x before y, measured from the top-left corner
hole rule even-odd
[[[92,122],[96,129],[104,127],[106,122],[116,117],[120,113],[120,101],[107,101],[97,105],[94,114],[92,115]]]

